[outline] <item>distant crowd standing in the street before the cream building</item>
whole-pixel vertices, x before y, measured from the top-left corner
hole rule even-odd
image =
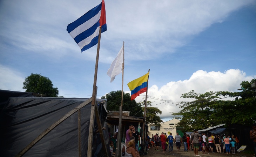
[[[186,133],[176,135],[173,137],[172,133],[168,136],[166,133],[161,135],[155,134],[151,137],[147,135],[147,143],[149,148],[159,151],[162,148],[162,152],[165,153],[169,148],[169,152],[173,151],[173,145],[175,143],[177,151],[181,151],[181,144],[184,145],[184,151],[194,151],[195,156],[198,155],[198,151],[205,153],[226,153],[226,154],[235,154],[237,150],[237,144],[239,143],[235,135],[214,135],[214,134],[199,134],[197,130],[194,130],[191,135]]]

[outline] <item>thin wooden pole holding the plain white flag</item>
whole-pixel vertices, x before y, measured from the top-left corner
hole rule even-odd
[[[122,107],[123,107],[123,69],[124,69],[124,42],[123,42],[123,64],[122,64],[122,96],[121,96],[121,106],[119,106],[119,124],[118,124],[118,134],[117,134],[117,151],[115,157],[121,157],[121,138],[122,138]]]

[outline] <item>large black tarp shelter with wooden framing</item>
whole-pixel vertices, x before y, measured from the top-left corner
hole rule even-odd
[[[34,93],[0,90],[1,156],[16,156],[19,152],[46,131],[56,121],[65,120],[35,143],[24,157],[78,157],[78,112],[65,117],[87,98],[34,97]],[[103,137],[109,150],[106,123],[106,100],[97,99],[97,109],[103,129]],[[81,113],[81,156],[87,156],[91,102],[80,109]],[[94,120],[92,154],[106,156],[103,151],[99,128]]]

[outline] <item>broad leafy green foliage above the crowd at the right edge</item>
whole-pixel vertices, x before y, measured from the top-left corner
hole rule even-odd
[[[251,82],[243,81],[242,88],[251,88]],[[206,92],[197,94],[194,90],[187,94],[182,94],[183,98],[192,98],[192,102],[181,102],[178,104],[182,110],[177,113],[177,119],[181,119],[179,126],[184,127],[183,132],[192,129],[204,129],[219,124],[242,124],[250,126],[256,121],[256,92]],[[223,97],[233,97],[233,100],[222,100]]]

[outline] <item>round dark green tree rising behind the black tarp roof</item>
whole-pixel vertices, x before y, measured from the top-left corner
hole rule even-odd
[[[43,94],[47,97],[58,97],[59,95],[58,88],[53,88],[52,81],[41,74],[32,73],[30,76],[26,77],[23,82],[23,89],[26,89],[26,92]]]

